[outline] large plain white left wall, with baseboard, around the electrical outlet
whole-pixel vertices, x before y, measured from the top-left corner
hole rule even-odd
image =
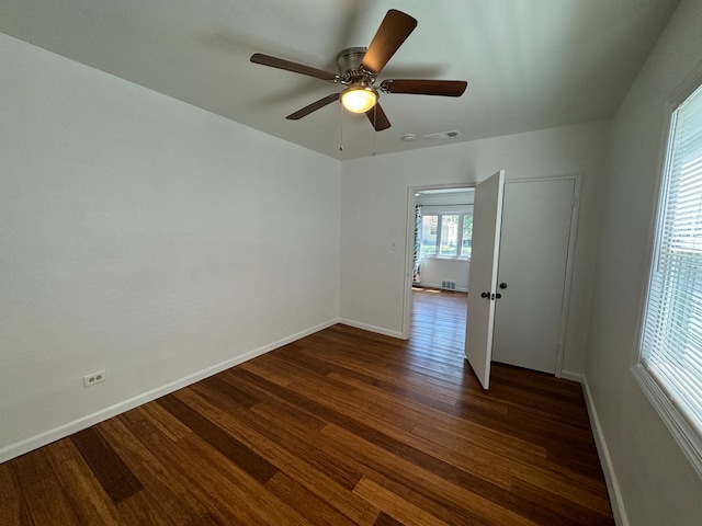
[[[1,34],[0,69],[0,461],[336,320],[339,161]]]

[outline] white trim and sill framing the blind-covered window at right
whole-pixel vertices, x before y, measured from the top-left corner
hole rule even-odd
[[[656,373],[649,370],[643,363],[642,345],[644,338],[644,323],[646,320],[646,309],[648,299],[648,288],[650,286],[652,274],[655,264],[656,239],[659,226],[659,206],[665,192],[663,184],[668,170],[670,156],[670,145],[672,142],[672,115],[680,104],[682,104],[702,84],[702,62],[699,64],[692,73],[680,84],[665,104],[664,127],[659,146],[658,173],[656,178],[656,194],[650,214],[647,243],[647,266],[643,279],[643,288],[639,298],[638,319],[636,324],[636,338],[634,340],[633,359],[631,371],[642,391],[656,410],[664,424],[677,442],[678,446],[688,458],[697,473],[702,477],[702,433],[691,424],[682,410],[677,405],[671,396],[666,392],[661,382],[656,378]]]

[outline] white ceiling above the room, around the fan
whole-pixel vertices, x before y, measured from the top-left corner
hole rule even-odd
[[[0,31],[338,159],[613,116],[679,0],[0,0]],[[337,72],[385,12],[418,26],[378,77],[467,80],[460,99],[387,94],[392,127],[330,104],[338,84],[254,65],[263,53]],[[461,137],[426,135],[458,130]],[[417,140],[400,140],[404,134]],[[343,151],[339,151],[340,144]]]

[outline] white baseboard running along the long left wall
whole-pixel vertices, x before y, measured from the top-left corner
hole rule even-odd
[[[234,367],[235,365],[242,364],[244,362],[247,362],[251,358],[254,358],[257,356],[271,352],[275,348],[282,347],[283,345],[287,345],[288,343],[301,340],[305,336],[308,336],[309,334],[319,332],[322,329],[327,329],[328,327],[331,327],[338,322],[339,322],[338,319],[329,320],[325,323],[320,323],[316,327],[312,327],[309,329],[301,331],[291,336],[284,338],[276,342],[270,343],[268,345],[263,345],[262,347],[254,348],[239,356],[229,358],[217,365],[213,365],[212,367],[206,367],[202,370],[199,370],[197,373],[193,373],[192,375],[188,375],[183,378],[166,384],[165,386],[157,387],[156,389],[144,392],[128,400],[124,400],[122,402],[115,403],[114,405],[110,405],[109,408],[101,409],[100,411],[97,411],[94,413],[88,414],[86,416],[81,416],[71,422],[67,422],[63,425],[59,425],[58,427],[44,431],[29,438],[4,446],[0,448],[0,462],[4,462],[12,458],[19,457],[20,455],[24,455],[25,453],[29,453],[33,449],[37,449],[42,446],[46,446],[52,442],[56,442],[60,438],[65,438],[66,436],[72,435],[73,433],[82,431],[86,427],[90,427],[91,425],[99,424],[100,422],[111,419],[112,416],[116,416],[117,414],[124,413],[126,411],[129,411],[131,409],[137,408],[147,402],[156,400],[157,398],[160,398],[165,395],[169,395],[173,391],[177,391],[178,389],[190,386],[191,384],[205,379],[212,375],[222,373],[223,370]]]

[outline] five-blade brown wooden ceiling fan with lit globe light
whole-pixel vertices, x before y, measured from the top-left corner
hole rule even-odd
[[[415,27],[417,27],[417,20],[401,11],[390,9],[381,22],[367,49],[349,47],[337,55],[339,75],[260,53],[251,55],[251,61],[346,87],[340,93],[319,99],[285,118],[297,121],[327,104],[341,100],[343,107],[350,112],[365,113],[375,130],[381,132],[389,128],[390,122],[377,102],[378,92],[461,96],[468,84],[465,80],[387,79],[374,85],[381,70]]]

